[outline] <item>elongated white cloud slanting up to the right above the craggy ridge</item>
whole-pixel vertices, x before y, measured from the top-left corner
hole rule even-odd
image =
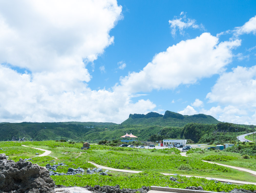
[[[210,33],[181,41],[165,52],[156,54],[140,72],[120,78],[114,89],[126,92],[149,92],[152,89],[174,89],[180,84],[194,84],[224,70],[233,58],[232,49],[240,40],[219,42]]]

